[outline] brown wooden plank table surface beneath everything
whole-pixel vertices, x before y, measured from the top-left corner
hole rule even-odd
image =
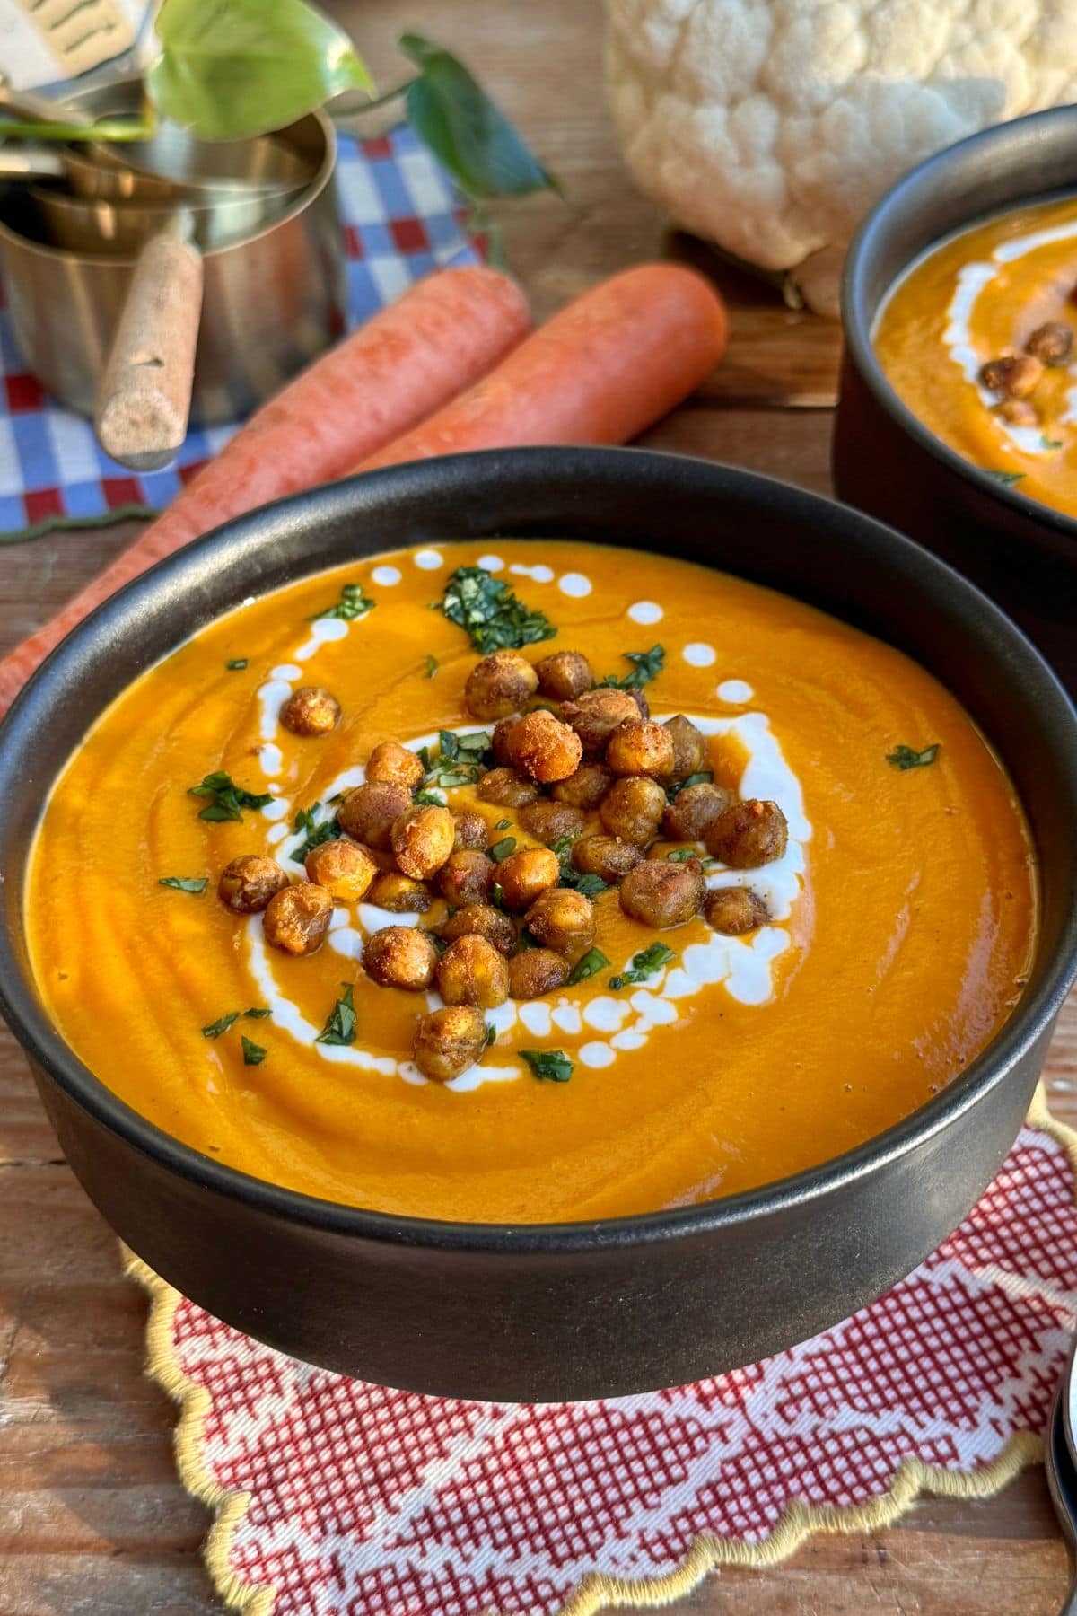
[[[378,79],[392,42],[430,32],[463,55],[565,183],[497,208],[541,317],[601,275],[701,249],[670,238],[620,166],[601,90],[597,0],[337,0]],[[714,268],[714,265],[712,265]],[[733,338],[707,386],[647,444],[828,488],[833,326],[715,271]],[[0,551],[0,651],[137,532],[66,532]],[[1077,1004],[1051,1052],[1054,1110],[1077,1123]],[[179,1488],[173,1408],[142,1377],[145,1306],[78,1188],[23,1055],[0,1026],[0,1616],[210,1616],[207,1517]],[[723,1571],[678,1611],[715,1616],[1048,1616],[1066,1558],[1040,1471],[985,1503],[925,1500],[886,1532],[815,1538],[770,1572]]]

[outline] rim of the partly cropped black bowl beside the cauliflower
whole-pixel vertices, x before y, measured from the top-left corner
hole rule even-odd
[[[961,477],[964,482],[972,483],[974,488],[988,498],[1001,499],[1003,504],[1008,504],[1012,511],[1020,512],[1024,517],[1030,517],[1041,525],[1053,528],[1062,538],[1077,541],[1077,517],[1066,516],[1064,511],[1058,511],[1054,506],[1033,499],[1030,494],[1022,493],[1014,483],[1003,483],[991,477],[991,473],[982,465],[975,465],[956,449],[951,449],[948,443],[943,443],[943,440],[938,438],[912,409],[909,409],[890,381],[890,377],[875,354],[875,344],[872,343],[874,317],[867,312],[869,297],[864,284],[867,276],[867,262],[877,250],[880,250],[880,241],[885,241],[891,221],[898,217],[906,217],[912,208],[916,208],[919,187],[925,181],[932,181],[940,173],[945,173],[958,154],[964,154],[972,149],[990,150],[995,145],[1003,147],[1012,141],[1014,134],[1020,139],[1024,131],[1029,131],[1029,139],[1035,139],[1035,136],[1038,136],[1045,128],[1050,129],[1054,124],[1062,124],[1064,128],[1077,124],[1077,105],[1048,107],[1045,112],[1025,113],[1020,118],[1011,118],[1008,123],[998,123],[987,129],[979,129],[975,134],[969,134],[962,141],[954,141],[953,145],[946,145],[941,152],[935,152],[932,157],[927,157],[924,162],[904,173],[901,179],[895,181],[895,184],[883,192],[878,202],[875,202],[870,213],[867,213],[862,220],[853,236],[853,241],[849,242],[841,271],[841,333],[846,349],[864,383],[872,391],[875,402],[880,404],[890,419],[922,449],[925,449],[933,459],[940,461],[946,470]],[[1077,163],[1074,173],[1074,196],[1077,196]],[[998,212],[1003,210],[999,208]],[[962,229],[972,229],[977,218],[983,217],[985,215],[972,215],[964,225],[956,226],[954,231],[948,231],[948,236],[959,234]],[[945,239],[946,236],[938,236],[935,246]],[[919,257],[932,250],[933,246],[928,244],[922,249]],[[914,262],[916,259],[909,259],[899,275],[907,273]],[[896,278],[898,276],[891,278],[886,288],[886,296],[893,289]]]

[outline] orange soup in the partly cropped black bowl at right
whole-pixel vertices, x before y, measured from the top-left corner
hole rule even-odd
[[[1001,213],[919,260],[875,351],[909,409],[975,465],[1077,516],[1077,197]]]

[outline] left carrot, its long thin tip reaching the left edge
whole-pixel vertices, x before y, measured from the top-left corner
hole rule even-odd
[[[0,716],[95,606],[229,517],[342,477],[439,409],[520,341],[528,305],[497,270],[441,270],[383,309],[263,404],[173,504],[60,611],[0,659]]]

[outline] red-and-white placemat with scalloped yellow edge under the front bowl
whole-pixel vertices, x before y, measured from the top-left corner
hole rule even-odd
[[[247,1616],[593,1616],[722,1563],[995,1492],[1040,1456],[1077,1312],[1077,1134],[1043,1102],[959,1230],[872,1307],[670,1391],[481,1404],[310,1369],[153,1298],[150,1372]]]

